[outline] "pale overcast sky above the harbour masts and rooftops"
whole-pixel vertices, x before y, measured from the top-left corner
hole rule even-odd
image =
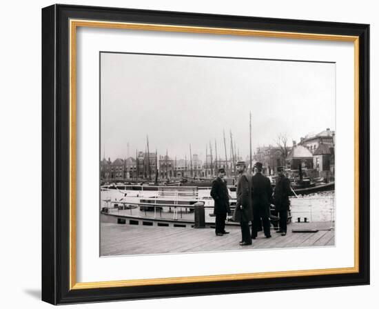
[[[224,155],[229,130],[245,158],[252,144],[274,145],[278,134],[299,141],[335,130],[335,64],[101,53],[101,157],[145,151],[205,158],[216,139]],[[214,150],[213,150],[214,151]],[[208,150],[209,153],[209,150]]]

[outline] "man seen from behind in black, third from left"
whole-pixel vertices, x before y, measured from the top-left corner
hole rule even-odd
[[[271,237],[270,222],[269,222],[269,206],[272,200],[272,186],[271,181],[262,174],[262,163],[255,164],[256,175],[252,177],[253,192],[252,192],[252,206],[253,206],[253,221],[252,221],[252,239],[256,239],[258,228],[260,227],[260,220],[263,223],[263,232],[267,238]]]

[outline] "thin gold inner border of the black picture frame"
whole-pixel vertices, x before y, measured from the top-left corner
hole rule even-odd
[[[173,26],[150,23],[127,23],[70,19],[70,290],[90,288],[116,288],[127,286],[148,286],[157,284],[196,283],[230,281],[243,279],[265,279],[280,277],[300,277],[314,275],[336,275],[359,272],[359,37],[316,34],[302,32],[279,32],[266,30],[246,30],[232,28],[211,28],[193,26]],[[127,30],[147,30],[165,32],[189,32],[204,34],[224,34],[249,37],[274,37],[285,39],[313,39],[321,41],[354,42],[354,267],[317,270],[289,270],[278,272],[254,272],[231,275],[208,275],[193,277],[168,277],[157,279],[129,279],[117,281],[76,282],[76,28],[114,28]]]

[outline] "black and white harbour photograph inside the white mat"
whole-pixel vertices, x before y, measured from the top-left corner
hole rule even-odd
[[[336,63],[101,51],[100,255],[336,246]]]

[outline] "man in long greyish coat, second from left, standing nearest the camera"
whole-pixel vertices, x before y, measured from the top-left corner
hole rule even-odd
[[[234,210],[233,219],[240,222],[242,240],[240,246],[252,244],[252,235],[250,235],[249,221],[253,220],[252,210],[252,177],[247,175],[245,161],[237,162],[238,181],[237,181],[237,203]]]

